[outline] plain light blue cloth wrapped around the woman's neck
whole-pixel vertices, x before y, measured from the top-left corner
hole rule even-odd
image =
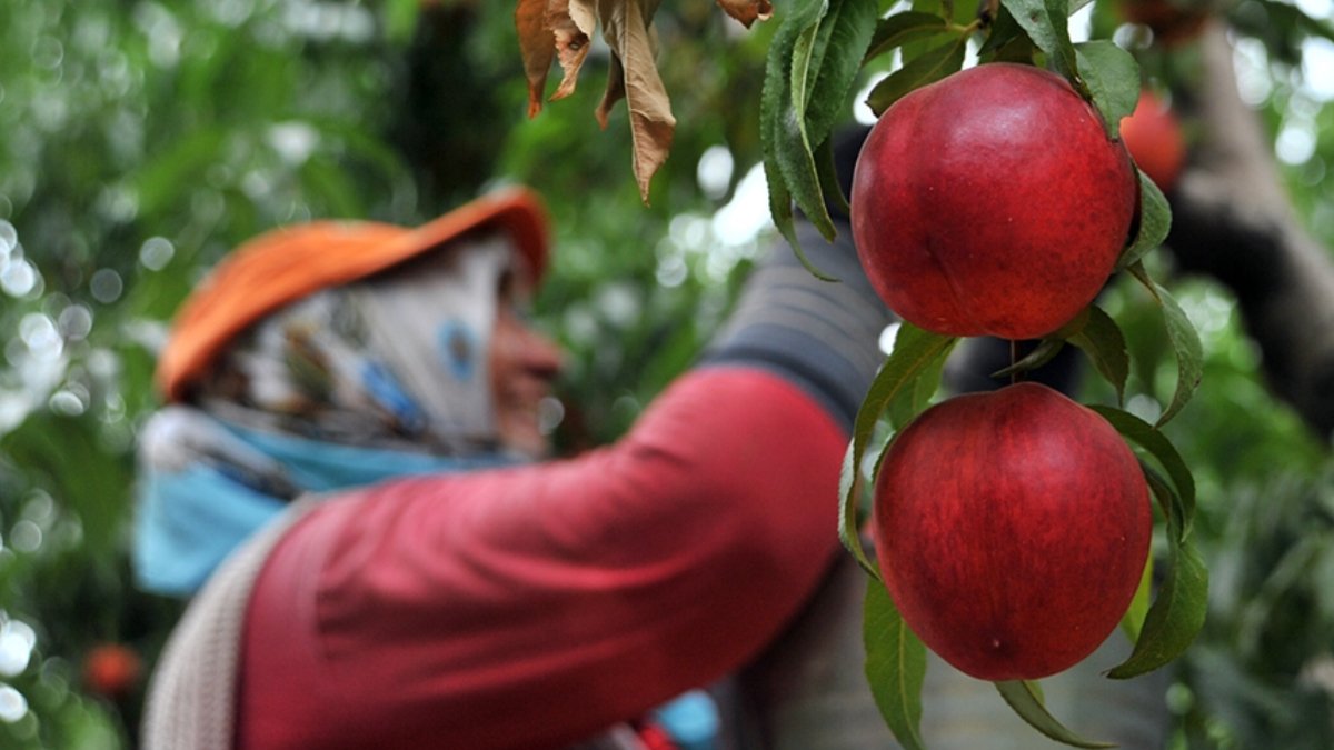
[[[332,492],[395,476],[476,471],[516,463],[511,455],[435,456],[354,447],[261,432],[217,422],[232,438],[283,468],[308,492]],[[180,468],[143,467],[135,519],[133,563],[141,589],[188,597],[213,569],[260,527],[277,518],[287,499],[264,491],[244,470],[216,460]]]

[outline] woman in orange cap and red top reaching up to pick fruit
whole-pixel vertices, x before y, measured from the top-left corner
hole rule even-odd
[[[624,439],[542,463],[532,195],[239,248],[177,318],[145,431],[140,578],[207,581],[145,747],[656,742],[644,717],[754,658],[838,554],[888,314],[846,240],[803,238],[843,283],[774,254]]]

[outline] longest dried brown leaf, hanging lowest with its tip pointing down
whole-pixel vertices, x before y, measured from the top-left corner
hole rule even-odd
[[[614,77],[608,79],[607,92],[598,107],[598,121],[606,127],[608,111],[624,96],[630,111],[635,180],[644,203],[648,203],[648,181],[667,160],[676,131],[671,100],[658,75],[656,45],[648,25],[656,9],[658,0],[598,0],[602,33],[614,55]],[[615,76],[616,68],[622,75]]]

